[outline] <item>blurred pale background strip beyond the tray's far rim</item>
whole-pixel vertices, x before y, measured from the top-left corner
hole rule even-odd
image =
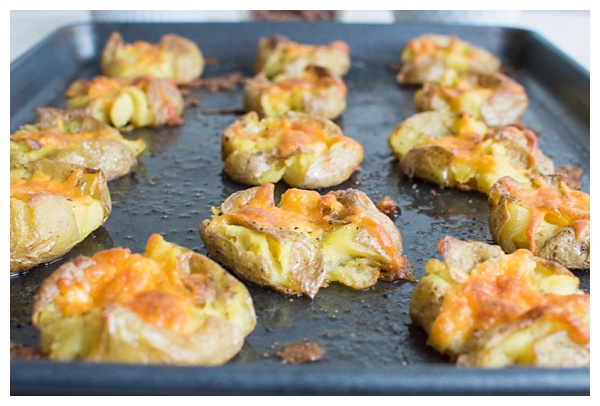
[[[496,25],[536,31],[590,69],[589,10],[188,10],[188,11],[15,11],[10,12],[11,62],[60,27],[92,21],[338,21],[402,24],[407,21]]]

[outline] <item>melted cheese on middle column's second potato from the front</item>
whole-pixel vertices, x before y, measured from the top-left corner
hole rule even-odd
[[[255,142],[277,138],[275,151],[278,157],[287,158],[297,153],[303,145],[323,143],[329,149],[333,144],[344,141],[351,148],[361,148],[353,139],[339,135],[327,134],[317,122],[297,122],[286,118],[266,119],[265,129],[247,133],[241,125],[235,125],[233,131],[238,139],[250,139]]]

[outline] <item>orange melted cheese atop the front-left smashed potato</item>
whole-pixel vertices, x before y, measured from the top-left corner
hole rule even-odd
[[[64,316],[81,315],[112,303],[130,309],[148,323],[179,333],[185,330],[197,289],[188,286],[186,274],[176,261],[159,262],[125,248],[101,251],[92,259],[95,263],[84,270],[86,283],[72,278],[57,282],[55,304]]]

